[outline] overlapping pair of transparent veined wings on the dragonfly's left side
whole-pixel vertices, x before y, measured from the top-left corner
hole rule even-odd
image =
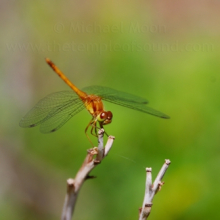
[[[83,108],[83,102],[73,91],[52,93],[41,99],[21,119],[19,125],[21,127],[35,127],[42,124],[41,131],[43,133],[55,131]]]

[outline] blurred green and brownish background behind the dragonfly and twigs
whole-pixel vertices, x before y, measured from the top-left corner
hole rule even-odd
[[[46,95],[103,85],[147,98],[164,120],[105,103],[116,137],[73,219],[138,219],[145,167],[170,159],[149,219],[220,219],[219,1],[1,1],[0,219],[59,219],[90,144],[86,110],[59,131],[22,129]],[[95,142],[96,140],[93,139]]]

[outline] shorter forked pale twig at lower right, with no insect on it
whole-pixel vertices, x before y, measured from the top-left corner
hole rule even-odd
[[[147,176],[146,176],[146,188],[145,188],[145,196],[142,208],[140,209],[139,220],[145,220],[148,218],[151,212],[151,207],[153,205],[152,201],[155,194],[161,190],[162,185],[162,178],[170,165],[170,160],[165,160],[160,172],[158,173],[153,185],[152,185],[152,169],[146,168]]]

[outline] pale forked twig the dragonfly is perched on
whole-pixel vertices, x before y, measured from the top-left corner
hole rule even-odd
[[[61,220],[71,220],[79,190],[86,179],[93,178],[89,173],[101,163],[112,147],[114,137],[109,136],[106,146],[103,144],[104,129],[98,132],[98,147],[89,149],[86,158],[76,174],[75,179],[67,180],[67,193],[64,201]],[[95,156],[95,158],[94,158]]]

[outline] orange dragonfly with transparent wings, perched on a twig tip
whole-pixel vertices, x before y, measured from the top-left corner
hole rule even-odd
[[[112,112],[104,109],[102,100],[160,118],[169,118],[168,115],[150,108],[145,98],[136,95],[103,86],[89,86],[80,90],[50,59],[46,58],[46,62],[72,90],[55,92],[41,99],[21,119],[21,127],[32,128],[40,125],[42,133],[55,132],[86,108],[92,119],[85,128],[85,134],[92,144],[87,134],[88,128],[91,126],[91,134],[97,137],[97,123],[103,128],[104,125],[110,124],[113,118]]]

